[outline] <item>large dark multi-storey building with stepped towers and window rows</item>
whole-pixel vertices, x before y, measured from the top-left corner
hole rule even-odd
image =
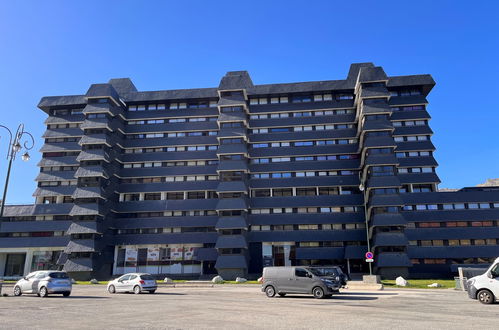
[[[385,277],[487,264],[499,188],[438,192],[434,84],[358,63],[345,80],[254,85],[235,71],[217,88],[139,92],[111,79],[44,97],[36,203],[6,209],[0,276],[22,260],[24,272],[78,278],[366,272],[368,242]]]

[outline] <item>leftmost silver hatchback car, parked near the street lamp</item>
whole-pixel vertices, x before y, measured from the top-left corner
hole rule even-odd
[[[71,294],[72,284],[66,272],[41,270],[29,273],[14,285],[14,296],[34,293],[39,297],[47,297],[49,293]]]

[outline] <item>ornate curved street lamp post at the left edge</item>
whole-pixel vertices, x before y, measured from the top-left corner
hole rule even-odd
[[[20,152],[23,149],[23,147],[24,149],[26,149],[26,152],[21,156],[21,159],[23,161],[28,161],[30,158],[28,150],[31,150],[35,145],[35,139],[33,138],[33,135],[24,130],[24,124],[19,124],[19,126],[17,127],[17,131],[14,135],[12,135],[12,132],[8,127],[3,125],[0,125],[0,127],[5,128],[9,133],[9,146],[7,149],[7,160],[9,161],[9,165],[7,167],[7,176],[5,177],[5,186],[3,188],[2,206],[0,208],[0,218],[1,218],[3,217],[5,197],[7,197],[7,188],[9,186],[9,177],[10,177],[10,169],[12,168],[12,161],[16,159],[17,153]],[[21,139],[23,139],[24,135],[31,138],[31,141],[29,139],[25,139],[24,142],[22,142],[21,144]]]

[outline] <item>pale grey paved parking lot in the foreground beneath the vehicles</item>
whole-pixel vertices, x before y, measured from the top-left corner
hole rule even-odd
[[[0,328],[356,328],[489,329],[499,304],[454,290],[349,291],[331,299],[267,298],[258,285],[160,287],[155,294],[110,295],[104,285],[75,285],[70,297],[0,297]]]

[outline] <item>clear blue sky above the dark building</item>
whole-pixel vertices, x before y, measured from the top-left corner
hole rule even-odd
[[[498,12],[497,1],[2,1],[0,124],[37,137],[7,203],[33,201],[43,96],[119,77],[143,91],[216,87],[230,70],[256,84],[344,79],[353,62],[433,76],[440,187],[499,177]]]

